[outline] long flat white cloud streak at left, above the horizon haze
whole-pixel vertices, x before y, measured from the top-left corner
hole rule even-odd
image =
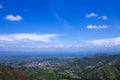
[[[40,41],[50,42],[52,38],[59,36],[58,34],[8,34],[0,35],[0,41],[16,42],[16,41]]]

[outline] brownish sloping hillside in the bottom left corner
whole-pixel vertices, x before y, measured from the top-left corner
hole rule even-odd
[[[0,80],[40,80],[40,79],[30,78],[16,68],[0,65]]]

